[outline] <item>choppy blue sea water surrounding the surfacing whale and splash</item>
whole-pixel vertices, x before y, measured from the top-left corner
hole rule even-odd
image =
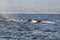
[[[0,21],[0,40],[60,40],[60,14],[6,14],[18,20],[51,20],[55,24]],[[0,18],[3,15],[0,15]]]

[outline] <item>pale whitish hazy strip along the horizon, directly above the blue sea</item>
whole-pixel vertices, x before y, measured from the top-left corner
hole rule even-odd
[[[0,12],[0,14],[60,14],[60,12]]]

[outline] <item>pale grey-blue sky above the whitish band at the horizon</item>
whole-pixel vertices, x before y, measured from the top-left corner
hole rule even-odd
[[[60,0],[0,0],[0,12],[60,10]]]

